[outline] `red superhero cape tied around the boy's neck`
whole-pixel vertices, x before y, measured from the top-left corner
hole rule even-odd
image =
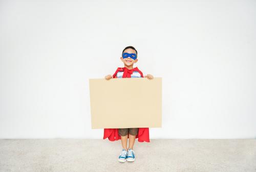
[[[123,71],[123,76],[122,78],[131,78],[131,75],[133,71],[138,71],[140,73],[141,78],[143,77],[143,73],[138,69],[138,67],[135,67],[133,69],[127,69],[126,67],[118,67],[116,69],[116,72],[113,75],[113,78],[117,78],[117,72],[118,71]],[[104,135],[103,139],[109,138],[110,141],[115,141],[121,139],[121,136],[118,134],[118,129],[104,129]],[[129,134],[128,134],[129,138]],[[139,142],[150,142],[150,130],[149,128],[139,128],[138,134],[136,135],[135,138],[138,138]]]

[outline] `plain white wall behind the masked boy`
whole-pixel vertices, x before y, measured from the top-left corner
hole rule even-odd
[[[256,137],[255,1],[0,1],[0,138],[99,138],[89,79],[163,79],[151,138]]]

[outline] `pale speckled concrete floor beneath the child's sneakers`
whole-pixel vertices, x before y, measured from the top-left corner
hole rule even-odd
[[[0,139],[0,171],[256,171],[255,139],[136,139],[134,151],[121,163],[120,140]]]

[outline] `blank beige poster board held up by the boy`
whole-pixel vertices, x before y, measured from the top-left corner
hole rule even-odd
[[[92,129],[161,128],[162,78],[89,79]]]

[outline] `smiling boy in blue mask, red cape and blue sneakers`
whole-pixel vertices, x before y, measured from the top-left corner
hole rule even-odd
[[[118,67],[113,76],[105,76],[106,80],[112,78],[148,78],[154,77],[147,74],[143,77],[143,73],[138,67],[133,67],[133,64],[138,61],[137,50],[133,46],[127,46],[122,52],[121,61],[124,67]],[[128,119],[130,120],[130,119]],[[128,134],[129,133],[129,134]],[[138,138],[139,142],[150,142],[150,133],[148,128],[125,128],[125,129],[104,129],[103,139],[109,138],[110,141],[121,139],[122,151],[118,157],[119,162],[135,161],[135,152],[133,150],[135,139]],[[129,148],[127,148],[127,138],[129,138]]]

